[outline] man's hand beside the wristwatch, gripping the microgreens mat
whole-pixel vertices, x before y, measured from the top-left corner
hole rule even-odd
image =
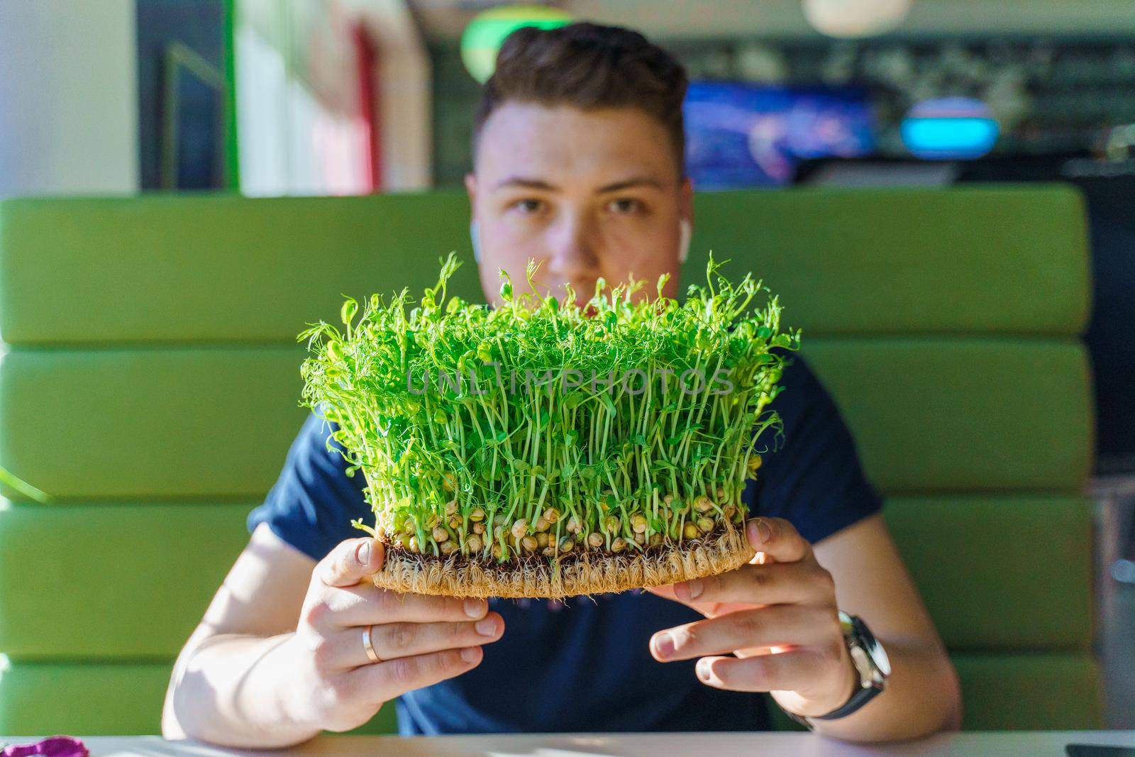
[[[824,715],[858,685],[832,575],[785,520],[755,518],[746,535],[757,550],[748,565],[650,589],[707,619],[655,633],[650,653],[661,662],[699,657],[706,685],[771,691],[789,712]]]

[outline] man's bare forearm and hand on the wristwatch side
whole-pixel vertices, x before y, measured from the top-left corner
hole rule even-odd
[[[706,685],[770,691],[790,712],[823,715],[857,685],[836,617],[843,609],[861,616],[882,642],[891,678],[858,712],[816,721],[816,731],[848,741],[896,741],[959,727],[957,674],[881,515],[815,548],[782,519],[753,519],[746,532],[758,561],[651,589],[707,619],[655,634],[656,658],[700,657],[698,676]],[[720,656],[728,653],[735,657]]]

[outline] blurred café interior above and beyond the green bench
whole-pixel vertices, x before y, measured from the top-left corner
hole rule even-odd
[[[496,45],[569,18],[687,66],[699,190],[1081,188],[1101,653],[1135,727],[1132,0],[0,0],[0,197],[460,190]]]

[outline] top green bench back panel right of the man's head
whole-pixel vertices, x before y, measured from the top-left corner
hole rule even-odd
[[[1084,203],[1061,185],[696,195],[688,275],[705,251],[763,277],[818,334],[1078,335]]]

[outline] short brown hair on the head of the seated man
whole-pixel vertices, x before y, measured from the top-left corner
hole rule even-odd
[[[543,106],[639,108],[670,133],[678,175],[684,176],[682,100],[688,79],[673,56],[621,26],[570,24],[522,26],[497,53],[481,93],[473,127],[473,154],[485,121],[506,102]]]

